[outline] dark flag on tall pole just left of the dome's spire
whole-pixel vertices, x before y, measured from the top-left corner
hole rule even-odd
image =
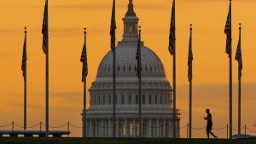
[[[111,25],[110,25],[110,37],[111,37],[110,48],[112,49],[112,51],[115,49],[115,29],[116,29],[115,0],[113,0],[113,8],[112,8],[112,14],[111,14]]]

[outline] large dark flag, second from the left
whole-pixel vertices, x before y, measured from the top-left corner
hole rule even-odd
[[[48,50],[48,0],[45,1],[44,5],[44,19],[42,26],[42,34],[43,34],[43,50],[44,54],[47,53]]]

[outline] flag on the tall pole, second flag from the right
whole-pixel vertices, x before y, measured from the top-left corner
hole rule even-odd
[[[224,33],[227,35],[226,39],[226,53],[230,56],[230,37],[231,37],[231,19],[230,19],[230,13],[231,13],[231,5],[229,8],[229,14],[227,16],[227,21],[224,29]]]

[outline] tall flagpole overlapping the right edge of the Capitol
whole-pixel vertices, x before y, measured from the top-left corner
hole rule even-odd
[[[175,0],[173,0],[174,27],[175,27]],[[175,27],[176,29],[176,27]],[[177,112],[176,112],[176,30],[174,30],[173,42],[173,138],[176,138],[177,129]]]

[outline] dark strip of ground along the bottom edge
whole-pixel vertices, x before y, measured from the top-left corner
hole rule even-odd
[[[256,144],[256,139],[132,139],[132,138],[14,138],[2,137],[0,144]]]

